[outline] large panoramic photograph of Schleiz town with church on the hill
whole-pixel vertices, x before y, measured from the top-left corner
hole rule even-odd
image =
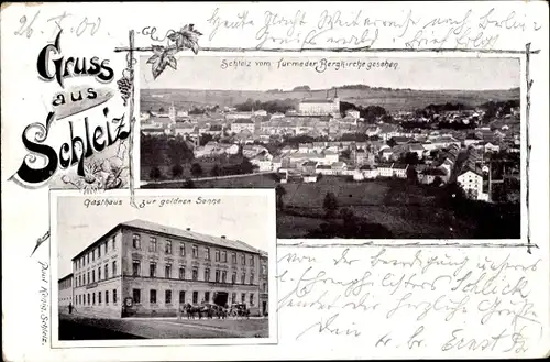
[[[519,239],[519,62],[382,61],[141,62],[141,187],[275,188],[286,239]]]

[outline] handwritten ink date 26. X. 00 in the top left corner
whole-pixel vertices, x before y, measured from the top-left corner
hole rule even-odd
[[[38,10],[35,13],[23,14],[19,19],[19,25],[13,34],[28,39],[38,34],[50,36],[50,40],[53,40],[61,30],[76,36],[94,36],[100,28],[101,18],[99,17],[76,15],[67,11],[54,17],[46,17],[41,14]]]

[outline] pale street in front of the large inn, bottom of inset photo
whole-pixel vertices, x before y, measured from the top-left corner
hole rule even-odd
[[[268,320],[177,318],[110,319],[59,315],[59,340],[267,338]]]

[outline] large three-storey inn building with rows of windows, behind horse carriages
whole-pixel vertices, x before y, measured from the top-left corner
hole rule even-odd
[[[74,305],[116,317],[175,316],[183,304],[261,314],[261,251],[242,241],[133,220],[73,259]]]

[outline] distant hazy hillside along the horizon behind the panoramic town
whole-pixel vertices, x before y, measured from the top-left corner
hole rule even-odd
[[[330,96],[333,90],[329,91]],[[177,108],[219,105],[234,106],[253,100],[268,101],[292,99],[298,103],[304,98],[324,98],[327,89],[302,91],[254,91],[254,90],[199,90],[199,89],[141,89],[141,110],[157,110],[174,102]],[[430,103],[461,102],[479,106],[490,100],[519,99],[519,88],[505,90],[409,90],[387,88],[339,89],[341,100],[359,106],[381,106],[388,111],[410,111]]]

